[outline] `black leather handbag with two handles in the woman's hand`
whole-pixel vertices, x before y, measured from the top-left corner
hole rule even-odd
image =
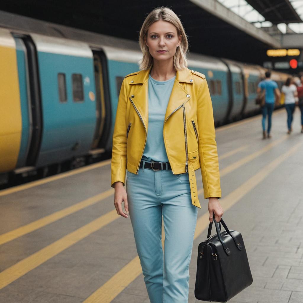
[[[202,301],[227,302],[252,283],[252,276],[243,238],[238,231],[213,222],[217,234],[211,235],[212,222],[208,226],[207,239],[198,246],[195,297]]]

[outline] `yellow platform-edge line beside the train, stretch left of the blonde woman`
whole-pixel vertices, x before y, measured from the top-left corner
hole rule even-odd
[[[25,183],[25,184],[22,184],[22,185],[16,185],[16,186],[13,186],[13,187],[10,187],[10,188],[7,188],[7,189],[2,189],[0,191],[0,197],[12,194],[12,193],[17,192],[17,191],[22,191],[22,190],[25,190],[25,189],[28,189],[28,188],[32,188],[32,187],[35,187],[35,186],[38,186],[38,185],[42,185],[42,184],[45,184],[45,183],[48,183],[48,182],[52,182],[52,181],[60,180],[62,178],[66,178],[66,177],[70,177],[70,176],[73,176],[73,175],[76,175],[76,174],[80,174],[80,173],[85,172],[85,171],[90,171],[92,169],[99,168],[99,167],[111,164],[111,161],[112,161],[112,159],[104,160],[104,161],[101,161],[101,162],[98,162],[98,163],[95,163],[95,164],[86,165],[85,167],[75,168],[71,171],[63,172],[63,173],[55,175],[55,176],[46,177],[46,178],[43,178],[41,180],[28,182],[28,183]]]

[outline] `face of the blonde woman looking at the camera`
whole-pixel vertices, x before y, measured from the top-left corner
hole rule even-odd
[[[181,35],[177,36],[175,25],[168,21],[158,20],[148,28],[145,43],[154,60],[164,61],[175,55],[181,43]]]

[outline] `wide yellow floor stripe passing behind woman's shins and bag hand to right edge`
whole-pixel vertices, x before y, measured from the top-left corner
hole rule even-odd
[[[249,178],[246,182],[240,185],[237,189],[232,191],[229,195],[222,199],[222,208],[224,211],[235,205],[243,196],[260,184],[278,165],[285,161],[289,156],[294,154],[302,143],[296,144],[290,148],[286,153],[278,156],[274,161],[270,162],[262,168],[257,174]],[[224,215],[223,215],[224,216]],[[201,235],[209,225],[209,213],[206,212],[197,220],[194,239]],[[105,284],[98,288],[92,295],[90,295],[83,303],[110,303],[116,298],[132,281],[134,281],[140,274],[142,268],[139,257],[135,257],[120,271],[118,271]]]

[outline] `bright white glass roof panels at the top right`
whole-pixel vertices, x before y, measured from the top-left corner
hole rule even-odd
[[[235,14],[239,15],[247,22],[252,23],[258,28],[271,27],[272,23],[266,21],[265,18],[257,12],[245,0],[217,0],[226,8],[230,9]],[[300,18],[303,20],[303,0],[288,0]],[[278,29],[285,34],[287,32],[287,25],[279,23]],[[303,33],[303,22],[301,23],[288,23],[288,27],[295,33]]]

